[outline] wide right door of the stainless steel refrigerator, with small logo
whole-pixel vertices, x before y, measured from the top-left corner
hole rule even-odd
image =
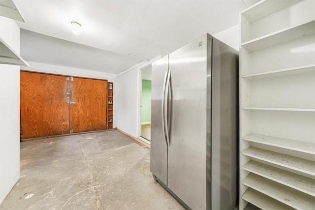
[[[169,55],[172,114],[167,186],[193,210],[206,209],[208,37]]]

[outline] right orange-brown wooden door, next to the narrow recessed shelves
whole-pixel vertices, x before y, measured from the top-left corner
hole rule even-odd
[[[70,133],[106,129],[107,81],[73,78]]]

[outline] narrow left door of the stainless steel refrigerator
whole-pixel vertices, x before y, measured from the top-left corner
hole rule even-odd
[[[151,172],[167,185],[167,143],[163,122],[163,97],[168,71],[168,55],[152,64]],[[166,116],[164,116],[166,118]]]

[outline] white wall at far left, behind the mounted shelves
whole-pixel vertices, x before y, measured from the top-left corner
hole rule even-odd
[[[0,17],[0,37],[20,53],[20,28]],[[20,66],[0,64],[0,203],[20,177]]]

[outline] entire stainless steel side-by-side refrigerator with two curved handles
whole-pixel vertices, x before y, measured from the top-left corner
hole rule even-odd
[[[238,203],[238,60],[205,34],[152,64],[151,172],[188,209]]]

